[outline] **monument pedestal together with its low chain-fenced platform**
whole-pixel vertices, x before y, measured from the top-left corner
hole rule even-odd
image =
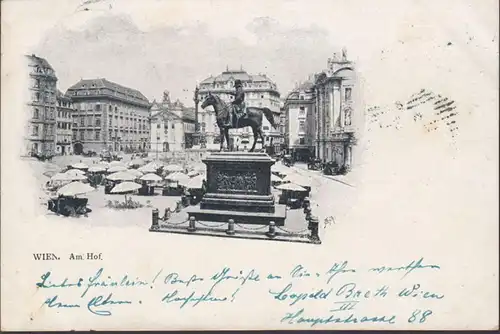
[[[275,203],[271,193],[274,160],[266,153],[216,152],[203,162],[207,192],[200,204],[167,219],[160,219],[158,210],[153,210],[150,231],[321,243],[319,224],[310,219],[310,208],[306,219],[296,216],[303,221],[300,231],[284,228],[287,210]]]

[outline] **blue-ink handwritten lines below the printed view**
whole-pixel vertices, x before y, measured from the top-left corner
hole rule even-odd
[[[401,321],[423,324],[432,319],[432,309],[414,309],[402,316],[401,313],[366,314],[366,311],[359,311],[359,306],[388,296],[391,299],[443,299],[445,295],[439,291],[428,290],[425,284],[411,280],[415,272],[434,272],[440,269],[439,265],[428,263],[423,258],[401,266],[375,266],[363,270],[356,269],[348,261],[340,261],[318,272],[309,270],[302,264],[282,273],[224,267],[207,276],[159,269],[150,277],[142,278],[130,273],[111,276],[105,268],[97,268],[94,273],[85,277],[66,277],[61,273],[46,271],[36,280],[35,286],[47,296],[42,307],[57,309],[59,312],[85,311],[96,316],[112,316],[120,308],[141,305],[143,302],[140,298],[130,298],[132,295],[140,296],[144,292],[141,289],[155,289],[159,304],[189,310],[200,305],[237,303],[238,296],[245,288],[258,285],[267,298],[264,301],[266,305],[279,303],[286,306],[287,312],[280,320],[282,324],[304,324],[311,327],[361,323],[392,325]],[[361,285],[356,282],[356,278],[362,271],[365,272],[365,277],[365,274],[377,276],[378,282],[383,282],[385,275],[392,278],[394,275],[399,276],[400,284],[370,287]],[[342,279],[338,279],[340,277]],[[312,283],[301,284],[309,280]],[[138,293],[131,294],[130,290]],[[72,293],[67,293],[69,291]],[[308,309],[311,302],[322,304],[321,307],[315,307],[313,312]],[[418,302],[415,305],[424,304]],[[318,309],[324,310],[323,313],[318,314]]]

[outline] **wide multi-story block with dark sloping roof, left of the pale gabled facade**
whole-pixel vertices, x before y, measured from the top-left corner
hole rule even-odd
[[[66,95],[73,112],[73,152],[147,151],[150,149],[150,108],[138,90],[106,79],[80,80]]]

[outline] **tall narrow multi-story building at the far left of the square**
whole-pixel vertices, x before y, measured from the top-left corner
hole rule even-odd
[[[26,55],[29,69],[29,116],[23,155],[54,155],[57,77],[47,60]]]

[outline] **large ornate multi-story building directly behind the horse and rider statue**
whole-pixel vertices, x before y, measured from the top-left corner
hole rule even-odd
[[[230,103],[234,98],[229,92],[234,92],[234,81],[241,80],[245,91],[245,104],[247,107],[267,107],[273,111],[275,122],[280,117],[280,93],[276,84],[265,74],[250,75],[243,69],[222,72],[216,77],[210,76],[199,85],[200,101],[203,101],[210,91],[219,95],[225,102]],[[216,124],[216,116],[212,109],[199,110],[200,131],[205,132],[207,144],[220,141],[220,131]],[[279,150],[282,135],[274,129],[264,117],[262,130],[264,133],[264,146],[269,151]],[[253,134],[250,127],[230,130],[231,145],[238,150],[249,149],[253,143]],[[257,146],[258,148],[260,146]]]

